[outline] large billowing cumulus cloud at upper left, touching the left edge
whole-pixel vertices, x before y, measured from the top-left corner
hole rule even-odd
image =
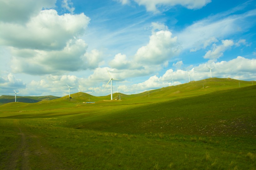
[[[83,13],[64,14],[42,10],[25,24],[0,22],[0,45],[37,50],[61,50],[66,42],[82,35],[90,21]]]

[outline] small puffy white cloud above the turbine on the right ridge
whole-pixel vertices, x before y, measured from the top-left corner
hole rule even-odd
[[[205,59],[218,59],[223,55],[223,52],[228,49],[229,47],[234,45],[233,40],[222,40],[222,45],[217,46],[213,44],[212,50],[207,51],[204,55]]]

